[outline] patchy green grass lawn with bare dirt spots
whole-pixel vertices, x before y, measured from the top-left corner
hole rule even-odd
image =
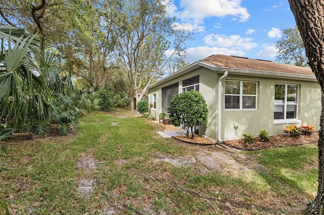
[[[67,137],[2,142],[11,213],[298,214],[316,194],[315,144],[229,153],[161,138],[134,115],[91,113]]]

